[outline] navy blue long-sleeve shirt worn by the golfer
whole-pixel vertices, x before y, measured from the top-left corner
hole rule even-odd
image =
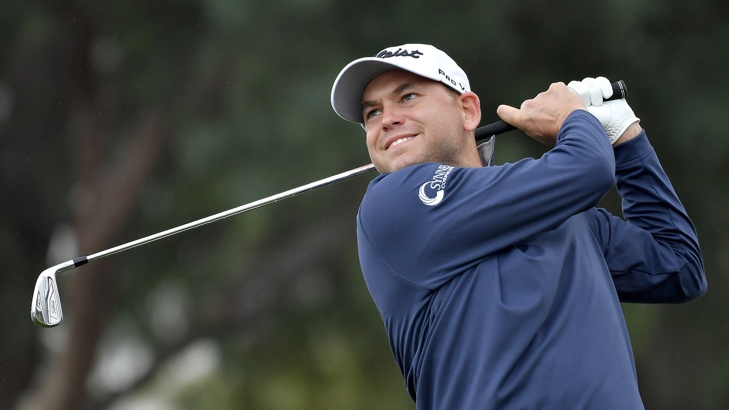
[[[625,220],[595,208],[616,183]],[[381,174],[357,236],[417,409],[642,409],[620,301],[706,290],[645,134],[613,149],[582,110],[539,159]]]

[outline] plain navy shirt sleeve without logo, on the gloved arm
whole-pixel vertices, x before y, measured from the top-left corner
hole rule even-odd
[[[615,147],[625,220],[590,210],[620,301],[682,303],[706,292],[698,236],[643,132]]]

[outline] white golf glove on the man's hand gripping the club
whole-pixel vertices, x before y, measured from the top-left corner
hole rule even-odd
[[[625,98],[603,101],[604,98],[612,96],[612,85],[605,77],[588,77],[582,81],[570,81],[567,88],[577,93],[585,103],[588,112],[600,121],[607,132],[610,144],[615,144],[628,126],[640,121]]]

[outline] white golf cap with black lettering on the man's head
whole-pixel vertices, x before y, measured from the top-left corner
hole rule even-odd
[[[362,124],[362,92],[385,71],[402,69],[429,80],[440,81],[462,94],[471,90],[466,73],[432,45],[406,44],[387,47],[374,57],[358,58],[340,71],[332,86],[332,108],[345,120]]]

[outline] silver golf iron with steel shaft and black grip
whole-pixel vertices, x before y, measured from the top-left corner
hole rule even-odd
[[[612,96],[610,98],[606,98],[606,101],[625,98],[625,82],[623,82],[622,80],[612,83],[612,90]],[[484,125],[483,127],[477,128],[475,130],[475,138],[478,141],[481,139],[486,139],[490,136],[495,136],[497,134],[503,134],[507,131],[512,131],[514,129],[516,128],[513,125],[507,124],[504,121],[498,121],[496,123]],[[133,247],[139,247],[140,245],[148,244],[149,242],[156,241],[157,239],[162,239],[176,233],[187,231],[188,229],[197,228],[200,225],[206,225],[217,220],[222,220],[223,218],[227,218],[235,214],[240,214],[242,212],[249,211],[250,209],[273,204],[274,202],[281,201],[282,199],[286,198],[291,198],[292,196],[296,196],[300,193],[305,193],[311,190],[315,190],[317,188],[334,185],[338,182],[346,181],[347,179],[359,177],[359,175],[367,174],[367,172],[373,171],[374,169],[375,166],[371,163],[369,165],[360,166],[359,168],[332,175],[332,177],[319,179],[319,181],[311,182],[306,185],[293,188],[291,190],[286,190],[282,193],[277,193],[276,195],[268,196],[266,198],[259,199],[258,201],[253,201],[249,204],[237,206],[233,209],[228,209],[227,211],[219,212],[209,217],[204,217],[199,220],[186,223],[184,225],[179,225],[176,228],[171,228],[166,231],[154,233],[152,235],[145,236],[144,238],[136,239],[135,241],[130,241],[126,244],[121,244],[116,247],[109,248],[108,250],[102,250],[101,252],[96,252],[82,258],[67,260],[66,262],[51,266],[50,268],[42,271],[36,281],[36,287],[33,292],[33,300],[31,301],[31,319],[36,325],[39,325],[42,328],[52,328],[61,324],[61,321],[63,321],[61,298],[58,295],[58,285],[56,285],[55,281],[55,275],[58,274],[58,272],[68,271],[71,268],[85,265],[92,260],[104,258],[105,256],[109,255],[114,255],[114,253],[129,250]]]

